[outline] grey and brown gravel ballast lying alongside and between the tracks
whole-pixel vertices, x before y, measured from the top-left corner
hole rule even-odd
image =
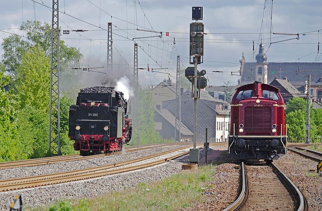
[[[172,148],[175,147],[166,147],[164,151],[168,151]],[[160,148],[155,150],[157,153],[162,151]],[[146,150],[143,152],[126,153],[118,157],[113,156],[88,161],[75,161],[79,163],[71,162],[71,164],[68,164],[69,162],[66,162],[64,164],[60,163],[38,167],[24,167],[21,169],[19,168],[20,170],[18,170],[18,168],[6,169],[1,170],[0,174],[3,176],[4,173],[4,176],[7,178],[15,178],[13,174],[16,174],[16,176],[20,175],[18,177],[21,177],[21,175],[28,176],[47,174],[59,171],[67,171],[67,169],[73,170],[94,167],[96,165],[103,165],[103,162],[105,163],[104,165],[121,162],[125,161],[126,159],[143,157],[152,153],[156,152],[154,150]],[[203,150],[200,151],[200,155],[204,155]],[[227,154],[221,155],[215,161],[218,160],[221,164],[216,166],[216,173],[213,175],[212,187],[206,188],[203,191],[204,201],[197,203],[192,207],[184,208],[183,210],[222,210],[234,201],[237,194],[239,175],[238,170],[234,168],[236,162]],[[111,175],[86,181],[70,182],[10,192],[0,192],[0,197],[3,199],[0,203],[0,210],[9,210],[12,201],[18,193],[22,195],[24,207],[48,204],[64,198],[96,196],[111,190],[134,187],[139,182],[147,183],[172,176],[181,171],[182,163],[187,162],[189,162],[189,156],[186,156],[181,160],[171,161],[157,167],[145,169],[143,170],[144,173],[142,173],[142,170],[137,170],[130,173]],[[314,174],[308,174],[310,169],[316,169],[316,162],[302,158],[301,156],[291,152],[288,152],[287,155],[273,162],[298,186],[300,191],[304,194],[309,205],[308,210],[322,209],[322,177],[313,176]]]

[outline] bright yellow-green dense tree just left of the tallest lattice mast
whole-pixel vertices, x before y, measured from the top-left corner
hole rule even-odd
[[[44,157],[48,150],[50,60],[35,45],[22,55],[14,91],[19,96],[19,131],[33,143],[30,158]]]

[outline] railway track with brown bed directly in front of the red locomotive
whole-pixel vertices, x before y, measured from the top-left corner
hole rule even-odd
[[[307,210],[293,182],[273,163],[240,164],[238,197],[224,210]]]

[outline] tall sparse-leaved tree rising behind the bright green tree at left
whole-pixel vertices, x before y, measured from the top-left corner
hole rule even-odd
[[[26,34],[27,40],[18,35],[11,35],[4,38],[2,47],[4,49],[3,63],[5,70],[12,76],[12,83],[17,79],[17,68],[22,62],[22,56],[33,46],[42,48],[46,56],[51,53],[51,26],[40,21],[23,22],[20,30]],[[59,68],[60,68],[60,89],[62,92],[79,84],[81,74],[69,68],[78,67],[79,60],[83,55],[75,47],[65,45],[59,40]],[[74,82],[74,83],[73,83]]]

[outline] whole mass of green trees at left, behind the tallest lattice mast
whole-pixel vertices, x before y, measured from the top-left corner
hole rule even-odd
[[[0,161],[38,158],[48,153],[51,27],[47,23],[27,21],[20,30],[27,39],[11,35],[2,43]],[[59,75],[63,78],[60,89],[71,88],[73,81],[79,84],[81,76],[63,67],[75,67],[83,55],[63,41],[59,45],[62,70]],[[6,85],[10,85],[9,91],[4,89]],[[61,151],[70,154],[74,153],[67,136],[70,100],[62,97],[60,105]]]

